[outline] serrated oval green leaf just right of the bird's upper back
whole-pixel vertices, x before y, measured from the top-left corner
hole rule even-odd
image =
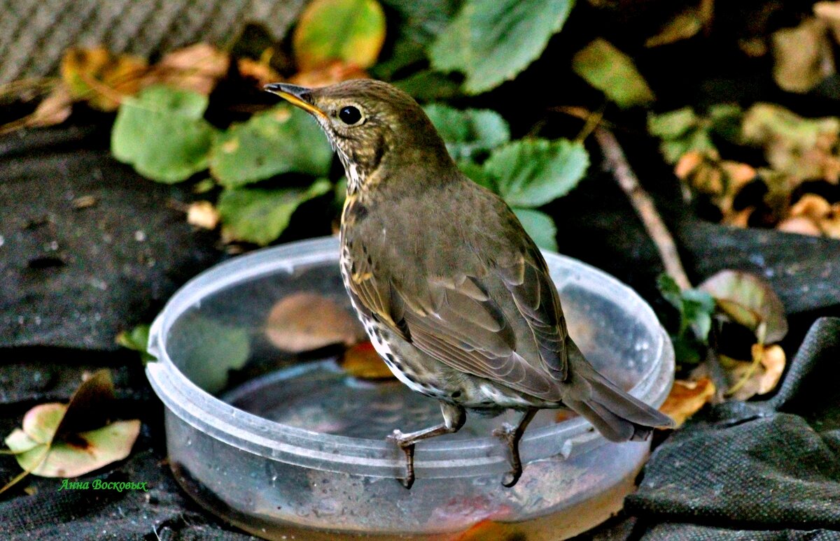
[[[508,205],[533,207],[565,195],[589,165],[582,143],[522,139],[496,148],[484,164]]]

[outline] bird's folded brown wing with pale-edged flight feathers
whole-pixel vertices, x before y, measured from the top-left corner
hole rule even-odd
[[[349,289],[376,320],[449,367],[559,401],[557,382],[565,379],[567,362],[556,289],[533,243],[508,256],[483,266],[477,259],[464,262],[412,281],[386,273],[388,262],[361,257]],[[459,272],[476,268],[486,271]],[[514,325],[522,324],[531,332],[521,337],[533,337],[536,348],[517,347]],[[541,362],[528,362],[523,351],[538,351]]]

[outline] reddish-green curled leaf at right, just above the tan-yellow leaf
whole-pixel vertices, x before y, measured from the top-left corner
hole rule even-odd
[[[755,274],[723,270],[700,284],[717,307],[752,330],[759,343],[780,341],[788,330],[785,306],[770,284]]]

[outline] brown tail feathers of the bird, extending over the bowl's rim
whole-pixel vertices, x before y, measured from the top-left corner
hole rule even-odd
[[[564,398],[564,403],[589,421],[607,440],[647,440],[655,427],[671,428],[673,419],[617,388],[596,372],[573,341],[566,342],[572,377],[589,385],[588,396]]]

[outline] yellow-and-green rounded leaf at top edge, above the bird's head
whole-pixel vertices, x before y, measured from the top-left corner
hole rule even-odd
[[[300,70],[333,60],[367,68],[385,42],[385,13],[376,0],[314,0],[303,11],[291,38]]]

